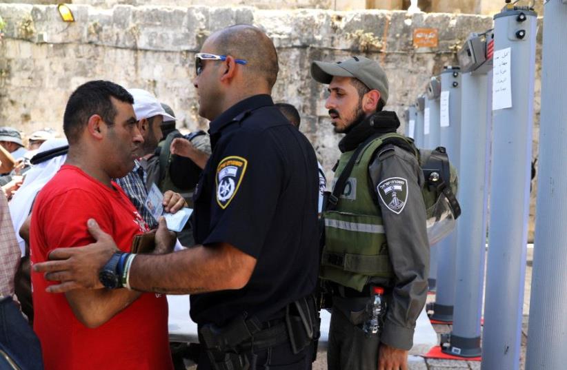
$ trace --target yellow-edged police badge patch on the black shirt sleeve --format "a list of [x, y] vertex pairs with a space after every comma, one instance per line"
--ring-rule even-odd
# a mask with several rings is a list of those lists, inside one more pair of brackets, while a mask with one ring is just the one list
[[239, 156], [224, 158], [217, 167], [217, 203], [222, 209], [228, 207], [235, 197], [238, 187], [246, 172], [248, 161]]

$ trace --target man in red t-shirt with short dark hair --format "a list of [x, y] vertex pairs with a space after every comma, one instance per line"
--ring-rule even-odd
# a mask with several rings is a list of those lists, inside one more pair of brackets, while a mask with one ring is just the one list
[[[92, 243], [89, 218], [96, 218], [122, 251], [130, 251], [132, 238], [148, 231], [111, 180], [132, 169], [143, 143], [132, 103], [126, 90], [108, 81], [90, 81], [70, 96], [63, 117], [68, 159], [35, 201], [32, 263], [48, 260], [57, 247]], [[157, 233], [157, 239], [169, 239], [163, 237], [163, 219]], [[172, 243], [167, 244], [158, 243], [155, 253], [168, 251]], [[52, 283], [43, 274], [32, 274], [32, 284], [34, 330], [46, 370], [172, 369], [166, 296], [127, 289], [48, 294]]]

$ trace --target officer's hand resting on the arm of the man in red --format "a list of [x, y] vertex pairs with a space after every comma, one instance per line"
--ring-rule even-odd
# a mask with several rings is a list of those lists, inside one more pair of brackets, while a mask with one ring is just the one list
[[103, 232], [92, 218], [87, 221], [87, 227], [96, 243], [54, 249], [49, 254], [50, 261], [33, 265], [35, 272], [46, 273], [46, 280], [60, 282], [47, 287], [49, 293], [103, 287], [99, 281], [99, 270], [118, 248], [112, 237]]

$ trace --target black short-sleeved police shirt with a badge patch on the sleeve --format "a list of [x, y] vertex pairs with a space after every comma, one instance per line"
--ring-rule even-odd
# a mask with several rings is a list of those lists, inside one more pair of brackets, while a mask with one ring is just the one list
[[212, 156], [194, 195], [195, 241], [229, 243], [257, 264], [243, 289], [192, 295], [191, 318], [218, 326], [239, 315], [281, 318], [317, 281], [315, 152], [269, 95], [233, 105], [209, 133]]

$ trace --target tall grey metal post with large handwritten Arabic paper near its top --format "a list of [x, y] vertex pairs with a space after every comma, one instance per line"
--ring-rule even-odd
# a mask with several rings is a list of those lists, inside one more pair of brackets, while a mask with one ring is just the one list
[[526, 273], [537, 14], [508, 4], [494, 19], [493, 166], [481, 369], [515, 370]]

